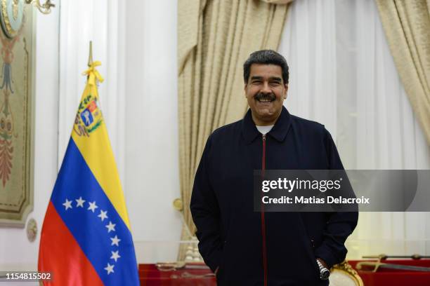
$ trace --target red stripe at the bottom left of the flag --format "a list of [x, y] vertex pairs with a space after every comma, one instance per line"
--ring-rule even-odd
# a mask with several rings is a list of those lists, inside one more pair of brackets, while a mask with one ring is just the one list
[[39, 272], [51, 272], [44, 285], [103, 285], [51, 201], [46, 210], [39, 247]]

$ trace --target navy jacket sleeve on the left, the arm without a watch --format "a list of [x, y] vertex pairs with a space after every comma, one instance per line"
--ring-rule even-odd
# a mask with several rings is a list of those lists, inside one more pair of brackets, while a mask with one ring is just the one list
[[221, 263], [222, 246], [219, 205], [208, 174], [210, 149], [211, 137], [207, 140], [195, 174], [190, 210], [197, 227], [196, 236], [199, 240], [200, 254], [207, 266], [215, 271]]

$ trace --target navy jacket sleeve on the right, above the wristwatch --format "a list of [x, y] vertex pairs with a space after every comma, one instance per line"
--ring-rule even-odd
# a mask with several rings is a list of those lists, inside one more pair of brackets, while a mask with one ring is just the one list
[[[325, 151], [329, 169], [344, 170], [330, 133], [325, 130]], [[315, 250], [315, 257], [323, 259], [330, 267], [341, 263], [346, 257], [345, 240], [356, 228], [358, 212], [332, 212], [323, 232], [323, 243]]]

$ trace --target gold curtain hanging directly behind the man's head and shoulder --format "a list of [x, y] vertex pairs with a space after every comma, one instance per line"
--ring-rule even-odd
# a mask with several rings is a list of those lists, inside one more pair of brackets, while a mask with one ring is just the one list
[[[242, 65], [249, 54], [278, 49], [287, 5], [266, 1], [178, 1], [179, 170], [191, 233], [190, 196], [207, 137], [244, 116]], [[183, 239], [189, 239], [185, 231]]]

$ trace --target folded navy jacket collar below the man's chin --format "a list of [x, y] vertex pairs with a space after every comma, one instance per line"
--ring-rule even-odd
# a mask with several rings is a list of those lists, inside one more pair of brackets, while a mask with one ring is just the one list
[[[275, 122], [272, 130], [267, 134], [275, 138], [277, 141], [284, 141], [287, 136], [287, 132], [291, 125], [291, 115], [285, 107], [282, 107], [282, 111], [278, 120]], [[245, 118], [242, 119], [242, 135], [245, 139], [245, 144], [251, 144], [254, 139], [261, 135], [259, 130], [257, 130], [254, 121], [252, 120], [251, 109], [248, 109]]]

